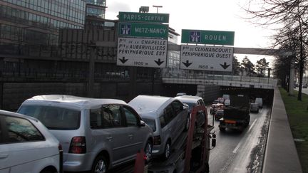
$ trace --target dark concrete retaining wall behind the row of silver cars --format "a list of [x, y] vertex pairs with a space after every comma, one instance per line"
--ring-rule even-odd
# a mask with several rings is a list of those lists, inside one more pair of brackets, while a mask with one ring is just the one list
[[[161, 83], [136, 83], [135, 95], [130, 95], [130, 84], [127, 82], [95, 83], [94, 98], [118, 98], [128, 101], [139, 94], [160, 95]], [[86, 83], [2, 83], [0, 86], [0, 109], [15, 111], [24, 100], [34, 95], [66, 94], [81, 97], [87, 96]]]

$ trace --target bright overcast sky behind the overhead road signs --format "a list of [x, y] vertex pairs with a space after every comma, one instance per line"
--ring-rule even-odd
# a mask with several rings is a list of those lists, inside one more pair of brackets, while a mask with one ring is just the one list
[[[235, 47], [269, 48], [272, 31], [255, 26], [243, 19], [247, 14], [242, 6], [247, 0], [106, 0], [106, 19], [117, 19], [119, 11], [138, 12], [140, 6], [149, 6], [150, 13], [156, 13], [153, 5], [163, 6], [158, 13], [170, 14], [169, 26], [176, 32], [182, 29], [235, 31]], [[180, 38], [179, 38], [180, 44]], [[265, 56], [236, 55], [241, 61], [248, 56], [252, 63]], [[272, 58], [267, 57], [268, 61]]]

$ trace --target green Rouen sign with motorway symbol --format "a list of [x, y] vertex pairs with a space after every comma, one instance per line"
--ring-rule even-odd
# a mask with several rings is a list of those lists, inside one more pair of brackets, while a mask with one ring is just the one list
[[182, 30], [182, 43], [234, 46], [234, 31]]

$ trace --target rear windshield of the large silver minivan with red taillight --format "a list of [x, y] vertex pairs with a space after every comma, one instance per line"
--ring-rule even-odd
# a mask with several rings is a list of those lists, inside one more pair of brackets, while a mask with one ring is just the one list
[[80, 126], [81, 112], [78, 110], [43, 105], [23, 105], [18, 112], [36, 117], [49, 130], [76, 130]]

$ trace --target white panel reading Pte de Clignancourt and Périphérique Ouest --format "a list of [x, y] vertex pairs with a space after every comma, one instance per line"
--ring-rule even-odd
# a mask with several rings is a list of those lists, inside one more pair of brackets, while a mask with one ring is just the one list
[[232, 47], [182, 45], [180, 68], [230, 72], [232, 58]]

